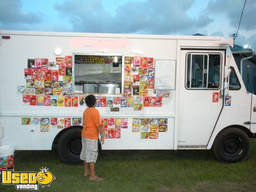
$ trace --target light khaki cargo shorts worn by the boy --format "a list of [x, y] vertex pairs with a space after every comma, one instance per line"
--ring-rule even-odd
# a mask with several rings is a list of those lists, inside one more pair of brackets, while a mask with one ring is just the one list
[[82, 137], [82, 150], [80, 159], [86, 163], [96, 163], [98, 157], [98, 140], [87, 139]]

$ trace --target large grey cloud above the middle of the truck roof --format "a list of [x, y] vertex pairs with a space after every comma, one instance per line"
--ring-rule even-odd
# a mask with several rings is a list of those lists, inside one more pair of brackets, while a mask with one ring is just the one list
[[69, 19], [79, 32], [116, 32], [169, 34], [207, 26], [212, 20], [201, 15], [197, 20], [186, 14], [193, 0], [148, 0], [119, 6], [114, 16], [105, 10], [101, 0], [66, 0], [55, 9]]

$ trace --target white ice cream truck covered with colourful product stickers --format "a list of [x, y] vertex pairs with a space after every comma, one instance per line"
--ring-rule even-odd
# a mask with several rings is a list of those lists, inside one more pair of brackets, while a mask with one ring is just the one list
[[213, 36], [0, 31], [0, 145], [81, 163], [84, 97], [94, 94], [103, 150], [213, 149], [248, 157], [256, 96], [229, 40]]

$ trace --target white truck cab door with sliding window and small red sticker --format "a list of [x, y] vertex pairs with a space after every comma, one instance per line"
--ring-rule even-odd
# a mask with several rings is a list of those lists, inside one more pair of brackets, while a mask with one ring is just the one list
[[224, 50], [180, 55], [178, 148], [206, 148], [224, 105]]

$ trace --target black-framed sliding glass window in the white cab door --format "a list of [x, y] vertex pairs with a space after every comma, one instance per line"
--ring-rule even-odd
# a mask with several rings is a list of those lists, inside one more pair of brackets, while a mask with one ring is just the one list
[[220, 88], [221, 55], [210, 53], [189, 53], [186, 56], [186, 88]]

